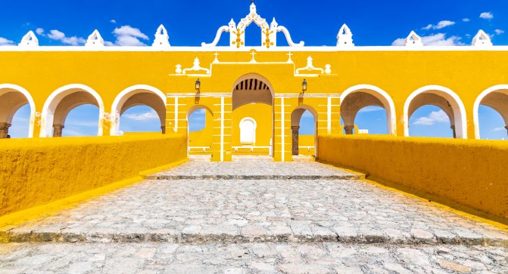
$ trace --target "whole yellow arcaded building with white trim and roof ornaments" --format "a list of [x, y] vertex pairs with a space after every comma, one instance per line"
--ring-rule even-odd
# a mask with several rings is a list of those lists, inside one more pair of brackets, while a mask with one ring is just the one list
[[[244, 44], [252, 23], [262, 29], [260, 47]], [[224, 32], [230, 45], [218, 47]], [[288, 47], [277, 46], [277, 32]], [[213, 161], [315, 154], [320, 134], [358, 132], [354, 119], [368, 105], [386, 110], [387, 132], [395, 136], [408, 136], [415, 110], [436, 105], [454, 136], [479, 138], [478, 105], [494, 108], [508, 125], [507, 60], [508, 47], [493, 46], [483, 31], [467, 47], [425, 47], [414, 32], [403, 47], [355, 47], [343, 25], [337, 45], [305, 47], [275, 19], [268, 24], [254, 4], [201, 47], [172, 47], [162, 25], [152, 47], [106, 47], [97, 31], [84, 47], [39, 47], [29, 32], [19, 46], [0, 48], [0, 138], [27, 103], [30, 137], [61, 136], [67, 114], [83, 104], [100, 110], [98, 136], [118, 135], [122, 113], [148, 105], [163, 133], [188, 134], [189, 153]], [[188, 132], [199, 109], [206, 126]], [[298, 138], [305, 111], [315, 133]]]

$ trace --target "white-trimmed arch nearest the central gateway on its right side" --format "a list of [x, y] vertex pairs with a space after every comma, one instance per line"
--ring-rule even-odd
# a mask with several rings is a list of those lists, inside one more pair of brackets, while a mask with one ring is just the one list
[[[377, 86], [358, 85], [345, 90], [340, 95], [340, 118], [344, 123], [345, 134], [353, 134], [356, 116], [368, 107], [383, 108], [386, 116], [386, 134], [395, 135], [395, 105], [388, 93]], [[371, 121], [378, 123], [378, 121]]]

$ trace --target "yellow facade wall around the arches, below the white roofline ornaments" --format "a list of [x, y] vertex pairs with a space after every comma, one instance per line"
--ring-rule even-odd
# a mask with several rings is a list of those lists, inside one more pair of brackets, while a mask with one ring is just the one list
[[[458, 133], [459, 138], [477, 137], [478, 123], [475, 124], [474, 119], [477, 110], [474, 109], [478, 96], [484, 90], [491, 88], [494, 93], [497, 92], [502, 102], [498, 109], [503, 117], [508, 117], [505, 113], [508, 107], [503, 108], [508, 102], [503, 101], [508, 98], [508, 88], [505, 89], [508, 83], [508, 63], [505, 62], [508, 60], [508, 51], [322, 51], [312, 48], [315, 51], [292, 51], [288, 60], [291, 49], [286, 49], [267, 51], [257, 48], [255, 62], [252, 62], [251, 55], [254, 50], [249, 49], [218, 51], [219, 62], [213, 62], [215, 51], [200, 51], [198, 48], [195, 51], [162, 52], [0, 51], [0, 96], [25, 90], [32, 97], [34, 137], [50, 135], [47, 128], [51, 129], [51, 125], [46, 125], [49, 120], [45, 117], [49, 110], [45, 106], [50, 109], [51, 104], [56, 105], [55, 113], [58, 112], [58, 103], [54, 102], [58, 99], [56, 91], [64, 97], [59, 99], [60, 102], [73, 95], [73, 92], [95, 92], [95, 95], [88, 97], [76, 95], [74, 100], [82, 98], [82, 103], [91, 102], [100, 107], [98, 134], [104, 136], [114, 133], [115, 113], [120, 109], [122, 100], [129, 103], [129, 98], [135, 97], [131, 94], [146, 94], [147, 97], [139, 98], [139, 102], [156, 110], [165, 106], [165, 113], [161, 111], [159, 116], [163, 117], [161, 125], [165, 126], [167, 132], [186, 134], [189, 111], [205, 107], [213, 113], [211, 128], [207, 129], [212, 132], [211, 142], [205, 142], [211, 144], [213, 160], [226, 161], [231, 160], [235, 152], [231, 147], [239, 145], [235, 139], [238, 136], [238, 132], [235, 132], [238, 128], [235, 112], [241, 110], [239, 108], [233, 112], [236, 99], [232, 91], [239, 79], [244, 78], [259, 79], [268, 86], [272, 95], [273, 103], [266, 105], [272, 109], [271, 113], [264, 106], [259, 108], [262, 111], [249, 112], [262, 115], [262, 124], [273, 125], [272, 129], [262, 127], [259, 140], [263, 140], [265, 146], [265, 137], [273, 136], [275, 160], [291, 160], [293, 111], [305, 108], [314, 112], [318, 135], [341, 133], [340, 112], [349, 111], [347, 97], [354, 98], [357, 105], [363, 105], [361, 97], [353, 96], [362, 93], [373, 95], [385, 109], [390, 109], [387, 121], [392, 127], [389, 132], [396, 136], [405, 134], [408, 99], [414, 98], [418, 90], [424, 93], [430, 90], [430, 93], [441, 96], [452, 105], [450, 108], [457, 105], [457, 112], [461, 113], [454, 114], [455, 121], [463, 121], [465, 125], [463, 136]], [[331, 73], [295, 73], [297, 68], [305, 66], [309, 56], [312, 56], [314, 66], [330, 64]], [[185, 67], [188, 64], [190, 67], [196, 57], [201, 66], [211, 68], [209, 74], [203, 71], [185, 75], [175, 73], [176, 65]], [[200, 92], [194, 88], [198, 78], [201, 82]], [[305, 92], [302, 92], [303, 79], [308, 82]], [[387, 96], [383, 97], [383, 92]], [[451, 96], [450, 92], [456, 96]], [[122, 99], [122, 96], [128, 99]], [[73, 105], [79, 103], [76, 101]]]

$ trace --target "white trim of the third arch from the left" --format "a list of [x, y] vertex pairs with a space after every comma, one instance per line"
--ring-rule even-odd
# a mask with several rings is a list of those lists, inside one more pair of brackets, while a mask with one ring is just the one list
[[129, 99], [132, 95], [135, 95], [137, 94], [138, 92], [134, 93], [131, 95], [132, 92], [135, 92], [136, 90], [144, 90], [144, 91], [149, 91], [149, 92], [153, 92], [155, 95], [159, 96], [162, 100], [162, 102], [164, 103], [164, 105], [166, 105], [166, 95], [164, 94], [164, 92], [162, 92], [161, 90], [159, 90], [159, 88], [154, 88], [153, 86], [148, 86], [148, 85], [134, 85], [134, 86], [130, 86], [124, 90], [122, 90], [122, 92], [120, 92], [117, 97], [115, 97], [115, 101], [113, 101], [113, 105], [111, 105], [111, 132], [110, 134], [111, 135], [119, 135], [120, 134], [120, 111], [122, 110], [122, 105], [124, 105], [125, 101], [127, 101], [127, 99]]

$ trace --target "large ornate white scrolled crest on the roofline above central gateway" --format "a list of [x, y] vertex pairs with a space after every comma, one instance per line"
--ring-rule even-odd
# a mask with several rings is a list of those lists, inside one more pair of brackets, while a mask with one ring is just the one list
[[298, 44], [293, 42], [288, 29], [286, 29], [286, 27], [279, 26], [277, 21], [275, 21], [275, 18], [273, 18], [272, 23], [268, 25], [266, 19], [257, 14], [256, 5], [252, 3], [249, 14], [242, 18], [238, 25], [236, 25], [235, 21], [231, 19], [231, 21], [229, 21], [229, 25], [219, 27], [213, 42], [209, 44], [202, 42], [201, 46], [217, 47], [222, 33], [229, 32], [229, 47], [241, 49], [245, 47], [245, 29], [246, 27], [249, 27], [251, 23], [255, 23], [261, 29], [261, 44], [262, 47], [266, 47], [266, 49], [270, 49], [270, 47], [277, 47], [277, 32], [282, 32], [284, 34], [290, 47], [303, 47], [303, 45], [305, 45], [305, 42], [303, 41]]

